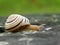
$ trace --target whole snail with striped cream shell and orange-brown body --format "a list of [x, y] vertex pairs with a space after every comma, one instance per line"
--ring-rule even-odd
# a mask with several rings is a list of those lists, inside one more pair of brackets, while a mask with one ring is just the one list
[[20, 32], [24, 29], [32, 29], [34, 31], [38, 31], [40, 26], [31, 25], [29, 19], [19, 15], [19, 14], [11, 14], [8, 16], [5, 22], [5, 29], [8, 32]]

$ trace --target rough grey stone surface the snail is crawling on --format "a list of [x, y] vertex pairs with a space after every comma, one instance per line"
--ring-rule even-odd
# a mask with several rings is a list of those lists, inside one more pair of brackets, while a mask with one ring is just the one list
[[[34, 14], [25, 15], [31, 24], [46, 26], [38, 32], [0, 33], [0, 45], [60, 45], [60, 15]], [[4, 29], [7, 17], [0, 17], [0, 31]], [[2, 26], [2, 27], [1, 27]]]

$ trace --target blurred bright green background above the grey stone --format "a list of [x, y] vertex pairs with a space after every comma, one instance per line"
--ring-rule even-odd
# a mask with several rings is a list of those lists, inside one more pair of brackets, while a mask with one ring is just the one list
[[60, 0], [0, 0], [0, 16], [12, 13], [60, 13]]

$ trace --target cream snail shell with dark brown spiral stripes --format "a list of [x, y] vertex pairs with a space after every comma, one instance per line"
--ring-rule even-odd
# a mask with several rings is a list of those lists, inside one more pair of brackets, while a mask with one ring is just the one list
[[18, 31], [24, 25], [30, 25], [28, 18], [19, 14], [11, 14], [5, 22], [5, 29], [9, 32]]

